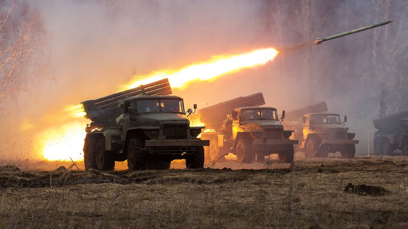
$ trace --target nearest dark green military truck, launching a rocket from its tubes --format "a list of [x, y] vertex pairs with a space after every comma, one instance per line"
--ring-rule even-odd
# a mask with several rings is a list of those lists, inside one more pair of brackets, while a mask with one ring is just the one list
[[202, 168], [209, 140], [197, 136], [204, 127], [190, 127], [183, 99], [170, 94], [164, 79], [82, 102], [92, 121], [86, 127], [85, 168], [111, 170], [115, 161], [127, 160], [129, 170], [165, 169], [174, 159]]

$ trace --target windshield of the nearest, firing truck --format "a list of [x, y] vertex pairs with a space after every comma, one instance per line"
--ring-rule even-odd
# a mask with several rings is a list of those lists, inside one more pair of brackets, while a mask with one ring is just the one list
[[184, 113], [184, 105], [180, 99], [141, 99], [137, 100], [137, 111]]

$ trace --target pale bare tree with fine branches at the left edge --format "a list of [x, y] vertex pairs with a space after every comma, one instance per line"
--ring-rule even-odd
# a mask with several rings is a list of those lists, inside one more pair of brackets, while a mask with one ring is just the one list
[[20, 0], [0, 0], [0, 101], [27, 91], [45, 76], [45, 26], [39, 10]]

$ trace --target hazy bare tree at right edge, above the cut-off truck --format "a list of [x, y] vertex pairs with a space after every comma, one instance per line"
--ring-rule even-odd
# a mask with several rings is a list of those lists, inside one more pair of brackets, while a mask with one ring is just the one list
[[[379, 98], [379, 118], [388, 114], [408, 109], [406, 101], [406, 87], [408, 74], [408, 43], [406, 42], [405, 15], [408, 13], [408, 4], [393, 1], [373, 0], [377, 21], [395, 20], [393, 26], [385, 27], [386, 33], [374, 30], [376, 38], [372, 43], [373, 74], [381, 82]], [[393, 12], [398, 12], [394, 13]]]

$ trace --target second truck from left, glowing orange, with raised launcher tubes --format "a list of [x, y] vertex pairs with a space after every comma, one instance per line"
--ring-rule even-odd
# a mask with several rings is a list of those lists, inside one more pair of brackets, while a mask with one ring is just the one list
[[[220, 123], [219, 117], [206, 117], [210, 110], [219, 112], [220, 109], [231, 108], [234, 104], [265, 104], [262, 93], [247, 97], [239, 97], [222, 102], [200, 110], [200, 119], [209, 126], [220, 127], [217, 131], [203, 133], [203, 138], [210, 138], [211, 145], [208, 156], [217, 160], [223, 155], [233, 153], [237, 155], [239, 163], [253, 163], [255, 160], [262, 162], [265, 156], [278, 154], [279, 162], [291, 163], [294, 156], [294, 144], [297, 140], [289, 139], [292, 130], [284, 130], [282, 121], [274, 107], [268, 106], [243, 106], [236, 107], [230, 114], [224, 115], [226, 119]], [[223, 107], [223, 108], [222, 108]], [[218, 109], [220, 108], [220, 109]]]

